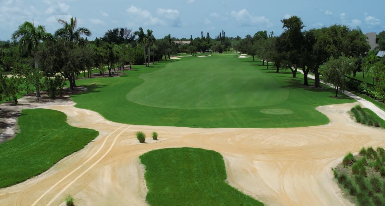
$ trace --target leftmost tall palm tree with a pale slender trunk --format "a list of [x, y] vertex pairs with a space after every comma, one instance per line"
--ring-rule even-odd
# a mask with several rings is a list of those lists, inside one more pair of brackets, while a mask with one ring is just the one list
[[[18, 29], [12, 33], [12, 40], [19, 41], [19, 47], [27, 49], [32, 53], [35, 59], [35, 71], [38, 68], [37, 48], [40, 42], [47, 40], [55, 40], [51, 33], [47, 33], [44, 26], [38, 25], [35, 27], [33, 22], [24, 22]], [[36, 97], [40, 97], [39, 80], [35, 83]]]

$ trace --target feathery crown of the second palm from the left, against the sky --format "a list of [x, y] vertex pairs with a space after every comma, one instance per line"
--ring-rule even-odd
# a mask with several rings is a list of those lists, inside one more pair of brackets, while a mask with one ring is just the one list
[[70, 42], [76, 42], [80, 45], [84, 44], [84, 39], [80, 37], [80, 35], [85, 35], [87, 37], [90, 37], [92, 33], [88, 28], [85, 27], [79, 27], [77, 28], [77, 20], [76, 17], [71, 17], [70, 22], [67, 22], [62, 19], [57, 20], [59, 23], [63, 25], [62, 28], [59, 28], [55, 32], [55, 36], [62, 37]]

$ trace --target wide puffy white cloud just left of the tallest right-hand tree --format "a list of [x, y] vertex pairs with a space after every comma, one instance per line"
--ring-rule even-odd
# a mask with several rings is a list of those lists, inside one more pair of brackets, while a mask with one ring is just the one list
[[231, 11], [231, 16], [240, 22], [242, 27], [254, 27], [258, 25], [271, 27], [273, 25], [268, 18], [264, 16], [253, 16], [246, 9], [242, 9], [239, 12]]

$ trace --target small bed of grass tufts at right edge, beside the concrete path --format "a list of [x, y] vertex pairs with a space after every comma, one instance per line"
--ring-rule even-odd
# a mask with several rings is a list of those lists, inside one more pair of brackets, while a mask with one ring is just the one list
[[360, 105], [357, 105], [350, 111], [352, 111], [358, 123], [385, 128], [385, 121], [370, 109], [361, 108]]

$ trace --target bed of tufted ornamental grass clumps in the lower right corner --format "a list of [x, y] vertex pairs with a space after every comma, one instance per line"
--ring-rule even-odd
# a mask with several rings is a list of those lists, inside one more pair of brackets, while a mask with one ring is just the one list
[[362, 148], [357, 156], [347, 154], [333, 169], [343, 193], [359, 206], [385, 205], [385, 150]]

